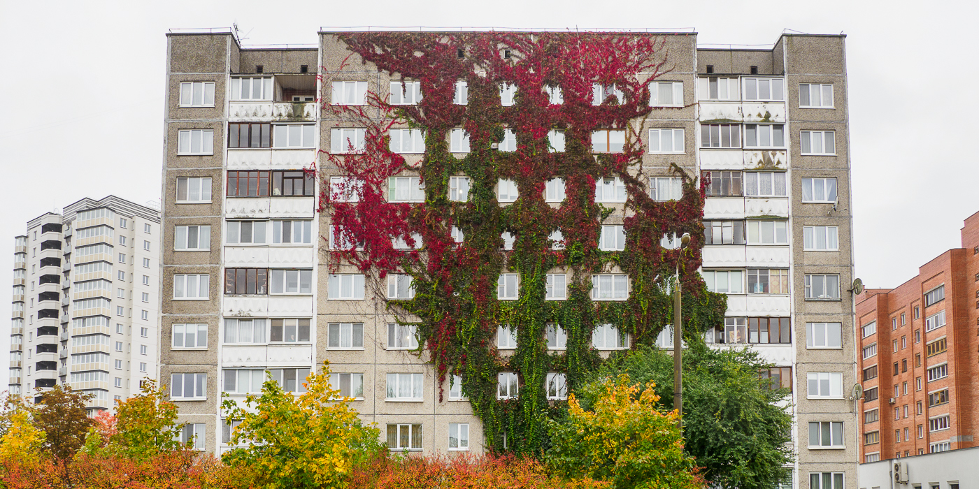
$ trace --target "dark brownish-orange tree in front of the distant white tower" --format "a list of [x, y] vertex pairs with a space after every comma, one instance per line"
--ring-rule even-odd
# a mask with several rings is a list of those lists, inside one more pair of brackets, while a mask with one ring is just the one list
[[92, 398], [72, 389], [56, 385], [41, 392], [33, 409], [34, 426], [44, 430], [44, 447], [56, 459], [70, 459], [85, 442], [85, 435], [92, 425], [85, 410], [85, 402]]

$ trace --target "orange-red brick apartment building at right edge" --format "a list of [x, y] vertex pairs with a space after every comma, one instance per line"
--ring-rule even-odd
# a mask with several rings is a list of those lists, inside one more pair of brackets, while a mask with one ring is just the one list
[[976, 446], [979, 213], [961, 234], [908, 282], [857, 299], [863, 463]]

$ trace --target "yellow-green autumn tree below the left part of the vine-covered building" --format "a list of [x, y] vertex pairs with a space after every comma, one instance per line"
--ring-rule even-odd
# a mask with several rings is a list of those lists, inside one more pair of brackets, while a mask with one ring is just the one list
[[227, 419], [241, 421], [231, 444], [247, 447], [225, 453], [224, 463], [251, 467], [258, 487], [348, 487], [353, 467], [383, 445], [380, 430], [360, 422], [350, 399], [330, 387], [329, 376], [324, 363], [319, 375], [306, 378], [306, 391], [299, 396], [269, 379], [244, 406], [225, 400]]

